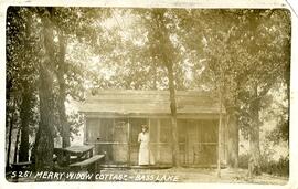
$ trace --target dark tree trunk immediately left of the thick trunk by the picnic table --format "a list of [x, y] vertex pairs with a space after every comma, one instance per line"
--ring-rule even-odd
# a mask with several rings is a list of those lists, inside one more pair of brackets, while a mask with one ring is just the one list
[[19, 161], [28, 161], [29, 160], [29, 124], [30, 124], [30, 109], [31, 107], [31, 93], [30, 90], [24, 85], [24, 93], [22, 95], [22, 104], [21, 104], [21, 144], [20, 144], [20, 153], [19, 153]]

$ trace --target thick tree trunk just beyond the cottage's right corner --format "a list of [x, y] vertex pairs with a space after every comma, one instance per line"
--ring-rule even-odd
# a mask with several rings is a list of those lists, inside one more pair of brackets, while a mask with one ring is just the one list
[[228, 112], [227, 123], [227, 166], [238, 167], [238, 116], [235, 109]]

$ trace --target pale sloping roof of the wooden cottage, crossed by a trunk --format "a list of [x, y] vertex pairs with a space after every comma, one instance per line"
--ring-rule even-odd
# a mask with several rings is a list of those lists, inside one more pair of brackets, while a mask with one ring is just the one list
[[[95, 95], [87, 95], [86, 101], [79, 106], [79, 112], [170, 115], [170, 94], [168, 91], [98, 91]], [[177, 112], [178, 114], [219, 114], [219, 99], [206, 92], [178, 91]]]

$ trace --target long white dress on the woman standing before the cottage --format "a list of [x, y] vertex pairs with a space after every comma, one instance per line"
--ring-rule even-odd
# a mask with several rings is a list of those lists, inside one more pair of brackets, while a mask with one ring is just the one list
[[140, 143], [139, 150], [139, 165], [153, 165], [155, 158], [150, 150], [150, 136], [149, 133], [140, 133], [138, 137]]

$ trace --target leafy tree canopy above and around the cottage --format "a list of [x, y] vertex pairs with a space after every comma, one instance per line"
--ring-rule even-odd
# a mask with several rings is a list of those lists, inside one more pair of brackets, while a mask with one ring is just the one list
[[[53, 23], [52, 52], [41, 45], [45, 10]], [[65, 39], [64, 53], [60, 36]], [[174, 90], [217, 93], [221, 88], [227, 114], [238, 117], [245, 138], [266, 119], [278, 117], [267, 137], [287, 141], [289, 40], [289, 12], [281, 9], [11, 7], [7, 21], [7, 116], [11, 117], [11, 109], [14, 114], [20, 109], [21, 101], [18, 107], [12, 107], [12, 102], [31, 91], [30, 129], [34, 133], [33, 125], [40, 119], [36, 86], [41, 54], [53, 53], [54, 102], [61, 78], [65, 102], [84, 101], [91, 88], [167, 90], [171, 67]], [[279, 91], [279, 86], [285, 90]], [[276, 99], [277, 93], [285, 98]], [[283, 102], [278, 111], [270, 111], [277, 102]], [[61, 133], [56, 103], [54, 125]], [[67, 120], [76, 134], [82, 119], [72, 113]]]

